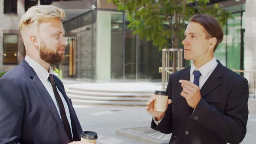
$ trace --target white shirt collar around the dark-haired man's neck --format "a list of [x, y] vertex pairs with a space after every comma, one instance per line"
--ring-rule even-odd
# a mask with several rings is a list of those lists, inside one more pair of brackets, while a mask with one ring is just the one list
[[195, 70], [199, 70], [199, 72], [202, 74], [202, 76], [205, 77], [210, 72], [210, 70], [214, 67], [216, 62], [217, 62], [217, 60], [216, 60], [215, 56], [213, 56], [213, 59], [211, 59], [209, 62], [207, 62], [206, 64], [201, 66], [199, 69], [197, 69], [197, 67], [194, 65], [194, 62], [192, 61], [191, 67], [190, 67], [190, 76], [193, 74], [193, 72]]

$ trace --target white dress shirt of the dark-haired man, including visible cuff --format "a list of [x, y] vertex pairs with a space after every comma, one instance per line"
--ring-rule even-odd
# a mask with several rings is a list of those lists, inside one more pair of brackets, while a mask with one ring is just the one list
[[[190, 67], [190, 82], [192, 82], [192, 83], [194, 82], [194, 74], [193, 74], [193, 72], [195, 70], [199, 70], [199, 72], [202, 74], [199, 77], [199, 88], [201, 89], [203, 87], [203, 84], [207, 81], [209, 76], [213, 73], [213, 70], [217, 67], [217, 65], [218, 65], [218, 62], [217, 62], [215, 56], [213, 56], [213, 59], [211, 59], [206, 64], [202, 65], [199, 69], [197, 69], [197, 67], [194, 65], [194, 62], [192, 61], [191, 62], [191, 67]], [[156, 121], [155, 118], [153, 118], [153, 120], [154, 120], [155, 124], [157, 124], [157, 125], [161, 122], [161, 120], [160, 121]]]

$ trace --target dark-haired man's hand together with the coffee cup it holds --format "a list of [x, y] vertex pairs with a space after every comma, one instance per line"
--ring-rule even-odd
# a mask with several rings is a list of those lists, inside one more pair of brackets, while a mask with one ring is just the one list
[[171, 99], [168, 99], [168, 95], [168, 92], [155, 91], [154, 95], [146, 102], [146, 111], [157, 121], [163, 118], [167, 106], [171, 104]]

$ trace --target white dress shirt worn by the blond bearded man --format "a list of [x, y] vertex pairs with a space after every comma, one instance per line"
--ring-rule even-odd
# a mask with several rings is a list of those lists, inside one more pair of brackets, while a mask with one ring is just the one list
[[[40, 81], [43, 83], [44, 87], [46, 88], [46, 90], [48, 91], [49, 95], [51, 96], [51, 98], [53, 99], [54, 105], [56, 106], [56, 109], [59, 113], [59, 117], [61, 118], [60, 112], [59, 112], [59, 106], [57, 104], [54, 92], [53, 92], [53, 87], [48, 79], [50, 74], [53, 74], [52, 68], [49, 66], [49, 72], [46, 71], [46, 69], [43, 68], [43, 66], [39, 65], [39, 63], [37, 63], [36, 61], [34, 61], [33, 59], [31, 59], [29, 56], [25, 56], [25, 60], [26, 62], [34, 69], [34, 71], [36, 72], [36, 75], [39, 77]], [[59, 92], [58, 87], [57, 91]], [[63, 102], [65, 111], [66, 111], [66, 116], [68, 118], [69, 121], [69, 125], [70, 125], [70, 129], [71, 129], [71, 133], [72, 133], [72, 125], [71, 125], [71, 118], [70, 118], [70, 114], [69, 114], [69, 107], [68, 104], [65, 100], [65, 98], [63, 97], [62, 93], [59, 92], [59, 96]], [[73, 133], [72, 133], [73, 136]]]

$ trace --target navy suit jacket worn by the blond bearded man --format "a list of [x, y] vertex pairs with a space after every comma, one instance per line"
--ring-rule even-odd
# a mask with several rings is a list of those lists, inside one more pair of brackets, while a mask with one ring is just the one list
[[[54, 76], [64, 96], [74, 141], [82, 128], [62, 82]], [[36, 72], [23, 60], [0, 79], [0, 144], [67, 144], [69, 138], [54, 102]]]

